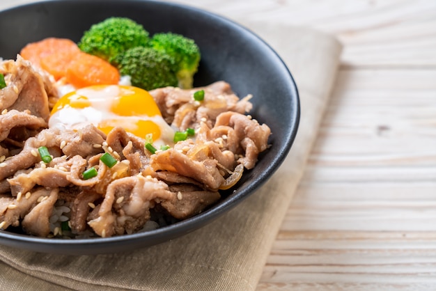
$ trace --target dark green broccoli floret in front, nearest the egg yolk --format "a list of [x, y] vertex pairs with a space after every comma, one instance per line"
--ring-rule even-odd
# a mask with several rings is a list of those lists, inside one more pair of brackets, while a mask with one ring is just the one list
[[128, 49], [114, 61], [121, 75], [130, 76], [133, 86], [152, 90], [178, 85], [173, 59], [150, 47]]

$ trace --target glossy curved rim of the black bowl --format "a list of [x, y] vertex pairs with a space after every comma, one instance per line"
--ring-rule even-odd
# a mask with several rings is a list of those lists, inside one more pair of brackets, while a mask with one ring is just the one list
[[[299, 127], [299, 118], [300, 118], [300, 102], [299, 102], [299, 93], [297, 89], [297, 85], [295, 83], [295, 79], [293, 75], [290, 73], [290, 70], [286, 66], [286, 63], [279, 56], [279, 54], [269, 45], [263, 38], [260, 38], [254, 31], [243, 26], [242, 24], [233, 21], [232, 19], [228, 19], [225, 16], [218, 15], [216, 13], [212, 13], [208, 10], [203, 10], [201, 8], [196, 8], [193, 6], [188, 6], [182, 3], [173, 3], [173, 2], [165, 2], [165, 1], [156, 1], [156, 0], [38, 0], [32, 3], [22, 3], [17, 6], [13, 6], [10, 8], [6, 8], [0, 10], [0, 15], [3, 13], [8, 13], [13, 10], [20, 10], [23, 8], [31, 8], [37, 7], [41, 5], [51, 5], [52, 3], [90, 3], [90, 2], [125, 2], [125, 3], [157, 3], [161, 6], [167, 6], [169, 8], [178, 8], [182, 10], [190, 10], [195, 13], [201, 13], [203, 15], [207, 15], [208, 17], [213, 18], [214, 20], [219, 20], [224, 24], [231, 26], [232, 29], [241, 29], [245, 31], [245, 33], [249, 33], [249, 35], [254, 36], [260, 43], [265, 45], [270, 53], [274, 54], [279, 63], [283, 65], [284, 70], [287, 72], [287, 76], [289, 78], [290, 85], [290, 93], [289, 95], [293, 97], [291, 102], [293, 103], [294, 110], [290, 112], [291, 120], [295, 120], [295, 123], [290, 125], [290, 131], [286, 136], [286, 146], [279, 149], [277, 155], [274, 155], [274, 159], [272, 159], [270, 165], [267, 167], [268, 171], [260, 173], [260, 175], [256, 176], [256, 182], [250, 183], [247, 187], [239, 191], [235, 191], [235, 195], [228, 196], [225, 200], [217, 205], [213, 205], [210, 209], [205, 210], [201, 214], [196, 214], [194, 217], [189, 219], [185, 219], [183, 221], [179, 221], [177, 223], [173, 223], [169, 226], [164, 226], [162, 228], [157, 228], [155, 230], [148, 230], [146, 232], [133, 233], [131, 235], [120, 235], [114, 237], [92, 237], [92, 238], [79, 238], [79, 239], [53, 239], [47, 237], [33, 237], [31, 235], [22, 235], [17, 233], [11, 233], [7, 230], [0, 230], [0, 244], [4, 244], [7, 246], [18, 247], [21, 249], [28, 249], [32, 251], [41, 251], [45, 253], [65, 253], [65, 250], [74, 249], [77, 255], [83, 254], [96, 254], [96, 253], [115, 253], [114, 249], [120, 249], [120, 246], [126, 244], [133, 244], [143, 242], [144, 240], [152, 241], [151, 244], [145, 244], [144, 246], [149, 246], [153, 244], [159, 244], [166, 240], [169, 240], [168, 235], [171, 233], [171, 238], [174, 239], [176, 237], [180, 237], [183, 234], [190, 233], [192, 230], [196, 230], [197, 228], [203, 228], [206, 224], [214, 221], [218, 217], [220, 217], [228, 210], [231, 210], [233, 207], [238, 205], [242, 200], [254, 194], [254, 192], [259, 189], [271, 176], [277, 171], [279, 166], [284, 162], [288, 152], [290, 151], [291, 146], [295, 141], [295, 136], [297, 135], [297, 130]], [[166, 238], [165, 238], [166, 237]], [[29, 248], [29, 244], [31, 244], [31, 248]], [[80, 249], [81, 246], [89, 246], [90, 248]], [[92, 245], [92, 247], [91, 247]]]

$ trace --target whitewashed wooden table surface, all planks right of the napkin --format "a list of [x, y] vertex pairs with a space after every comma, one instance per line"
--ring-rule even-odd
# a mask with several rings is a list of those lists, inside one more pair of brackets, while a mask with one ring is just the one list
[[178, 2], [344, 45], [258, 290], [436, 290], [436, 1]]

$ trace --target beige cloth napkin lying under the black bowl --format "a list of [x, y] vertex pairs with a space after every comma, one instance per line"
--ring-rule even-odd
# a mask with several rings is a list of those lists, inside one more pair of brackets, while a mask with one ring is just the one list
[[295, 77], [301, 98], [297, 139], [271, 180], [208, 226], [145, 249], [67, 256], [0, 246], [0, 290], [256, 288], [316, 138], [341, 45], [309, 29], [260, 22], [245, 25], [279, 52]]

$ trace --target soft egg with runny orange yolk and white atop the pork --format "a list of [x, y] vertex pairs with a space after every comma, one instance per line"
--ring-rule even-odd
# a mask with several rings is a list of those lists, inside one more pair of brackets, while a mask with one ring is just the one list
[[150, 93], [133, 86], [96, 85], [63, 95], [49, 127], [79, 129], [89, 123], [106, 134], [114, 127], [141, 138], [152, 134], [157, 146], [172, 143], [174, 136]]

